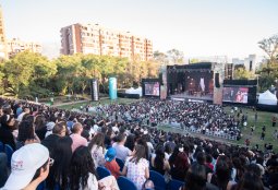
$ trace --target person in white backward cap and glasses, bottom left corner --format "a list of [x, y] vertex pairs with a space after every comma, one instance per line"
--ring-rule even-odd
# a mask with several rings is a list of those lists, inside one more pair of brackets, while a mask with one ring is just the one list
[[34, 190], [49, 173], [48, 150], [39, 144], [27, 144], [15, 151], [11, 159], [11, 175], [1, 190]]

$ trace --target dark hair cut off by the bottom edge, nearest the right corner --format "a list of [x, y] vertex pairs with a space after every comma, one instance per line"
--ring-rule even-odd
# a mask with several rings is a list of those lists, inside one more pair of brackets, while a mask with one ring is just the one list
[[237, 190], [264, 190], [261, 178], [254, 173], [245, 173], [237, 186]]

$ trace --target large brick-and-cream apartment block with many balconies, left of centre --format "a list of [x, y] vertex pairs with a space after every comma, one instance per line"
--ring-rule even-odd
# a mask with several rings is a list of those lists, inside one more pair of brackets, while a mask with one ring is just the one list
[[149, 39], [100, 27], [98, 24], [73, 24], [62, 27], [61, 54], [77, 52], [108, 55], [147, 61], [153, 58], [153, 43]]

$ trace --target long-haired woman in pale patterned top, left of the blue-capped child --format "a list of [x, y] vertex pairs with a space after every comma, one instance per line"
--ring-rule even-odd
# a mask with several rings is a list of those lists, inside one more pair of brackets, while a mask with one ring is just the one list
[[97, 133], [88, 143], [88, 150], [90, 151], [95, 166], [105, 165], [105, 134]]

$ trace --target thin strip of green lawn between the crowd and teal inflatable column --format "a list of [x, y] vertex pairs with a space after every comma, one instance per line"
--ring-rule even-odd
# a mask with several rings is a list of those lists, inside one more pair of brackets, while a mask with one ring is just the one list
[[85, 102], [85, 103], [76, 103], [74, 104], [71, 104], [71, 105], [63, 105], [63, 106], [57, 106], [61, 109], [73, 109], [73, 108], [76, 108], [78, 109], [81, 106], [87, 106], [87, 105], [90, 105], [90, 106], [98, 106], [99, 104], [100, 105], [109, 105], [109, 104], [131, 104], [131, 103], [135, 103], [135, 102], [138, 102], [140, 99], [131, 99], [131, 98], [117, 98], [116, 100], [110, 100], [109, 98], [101, 98], [99, 102]]

